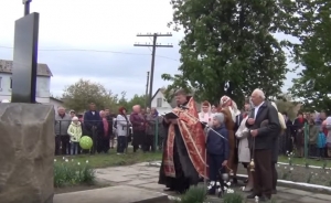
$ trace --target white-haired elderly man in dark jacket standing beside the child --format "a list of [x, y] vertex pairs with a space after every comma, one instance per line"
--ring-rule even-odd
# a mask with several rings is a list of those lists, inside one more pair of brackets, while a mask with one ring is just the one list
[[[254, 109], [247, 119], [246, 127], [249, 128], [253, 137], [252, 157], [255, 161], [254, 192], [247, 199], [259, 196], [261, 201], [270, 200], [273, 192], [273, 145], [275, 138], [280, 133], [280, 124], [278, 111], [265, 100], [265, 94], [260, 89], [255, 89], [252, 94]], [[261, 122], [268, 120], [268, 124], [261, 127]]]

